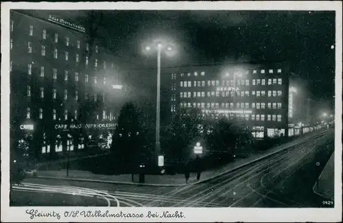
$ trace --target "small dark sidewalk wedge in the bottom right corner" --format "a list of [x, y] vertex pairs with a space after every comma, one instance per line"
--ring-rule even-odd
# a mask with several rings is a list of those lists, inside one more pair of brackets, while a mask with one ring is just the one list
[[[322, 173], [320, 174], [318, 181], [314, 184], [314, 193], [317, 193], [323, 198], [334, 200], [335, 191], [335, 153], [331, 155], [327, 165], [325, 165]], [[317, 185], [318, 184], [318, 185]]]

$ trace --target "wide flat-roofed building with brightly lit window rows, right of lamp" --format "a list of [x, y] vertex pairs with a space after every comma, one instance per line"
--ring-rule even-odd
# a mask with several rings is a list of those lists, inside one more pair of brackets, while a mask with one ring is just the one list
[[288, 72], [285, 62], [174, 69], [169, 108], [172, 113], [193, 106], [204, 115], [235, 117], [257, 138], [287, 136]]

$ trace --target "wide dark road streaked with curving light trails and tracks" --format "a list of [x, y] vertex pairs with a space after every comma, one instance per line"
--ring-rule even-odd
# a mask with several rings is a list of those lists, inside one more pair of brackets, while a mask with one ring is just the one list
[[334, 130], [197, 185], [152, 187], [28, 178], [14, 206], [333, 207], [312, 187], [334, 150]]

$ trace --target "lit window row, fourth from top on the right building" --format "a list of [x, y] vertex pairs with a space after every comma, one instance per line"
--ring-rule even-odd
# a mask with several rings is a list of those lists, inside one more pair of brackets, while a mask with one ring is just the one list
[[[181, 108], [250, 108], [250, 103], [249, 102], [237, 102], [236, 106], [233, 102], [222, 102], [222, 103], [218, 103], [218, 102], [209, 102], [209, 103], [204, 103], [204, 102], [193, 102], [193, 103], [189, 103], [189, 102], [181, 102], [180, 103], [180, 107]], [[251, 103], [251, 108], [256, 108], [256, 109], [281, 109], [282, 107], [282, 103], [281, 102], [252, 102]]]

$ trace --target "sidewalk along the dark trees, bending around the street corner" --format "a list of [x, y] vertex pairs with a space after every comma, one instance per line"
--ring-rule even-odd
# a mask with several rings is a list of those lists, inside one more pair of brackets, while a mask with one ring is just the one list
[[[261, 154], [251, 154], [250, 156], [237, 159], [233, 163], [228, 163], [219, 167], [218, 169], [209, 169], [207, 171], [202, 172], [200, 181], [196, 181], [196, 173], [191, 173], [189, 178], [189, 183], [201, 183], [211, 178], [215, 178], [216, 176], [220, 176], [225, 174], [226, 172], [233, 171], [238, 169], [239, 167], [243, 167], [252, 163], [254, 161], [258, 161], [259, 159], [263, 159], [266, 156], [270, 156], [276, 152], [280, 152], [281, 150], [285, 150], [286, 148], [291, 147], [292, 145], [296, 145], [303, 141], [306, 141], [309, 137], [314, 136], [315, 134], [320, 134], [320, 132], [324, 131], [316, 131], [311, 132], [305, 135], [302, 138], [295, 139], [289, 143], [285, 143], [283, 145], [276, 146], [271, 148], [270, 150], [266, 150]], [[131, 175], [130, 174], [122, 174], [122, 175], [102, 175], [102, 174], [93, 174], [91, 172], [82, 171], [82, 170], [69, 170], [69, 176], [67, 177], [67, 170], [57, 170], [57, 171], [39, 171], [38, 178], [59, 178], [64, 180], [82, 180], [82, 181], [93, 181], [99, 183], [118, 183], [118, 184], [128, 184], [128, 185], [141, 185], [138, 183], [138, 174], [134, 175], [134, 182], [132, 183]], [[185, 184], [185, 175], [184, 174], [175, 174], [175, 175], [145, 175], [145, 183], [143, 185], [150, 185], [150, 186], [182, 186]]]

